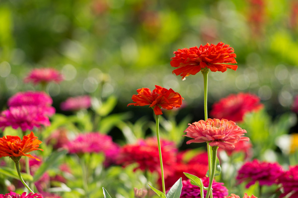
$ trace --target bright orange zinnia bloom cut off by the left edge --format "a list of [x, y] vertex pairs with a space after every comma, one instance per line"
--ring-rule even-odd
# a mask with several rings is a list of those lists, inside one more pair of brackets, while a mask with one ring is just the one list
[[0, 157], [27, 156], [39, 161], [38, 158], [26, 153], [33, 150], [43, 150], [38, 148], [41, 143], [42, 142], [37, 140], [37, 137], [34, 136], [33, 132], [24, 136], [23, 140], [18, 136], [3, 136], [3, 138], [0, 138]]

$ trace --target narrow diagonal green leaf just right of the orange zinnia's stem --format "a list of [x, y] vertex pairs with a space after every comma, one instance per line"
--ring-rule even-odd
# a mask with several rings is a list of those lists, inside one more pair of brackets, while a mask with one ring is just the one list
[[58, 159], [64, 155], [66, 155], [67, 150], [61, 150], [53, 152], [45, 162], [41, 164], [41, 166], [37, 169], [34, 174], [33, 181], [36, 182], [40, 179], [40, 177], [55, 163], [57, 163]]

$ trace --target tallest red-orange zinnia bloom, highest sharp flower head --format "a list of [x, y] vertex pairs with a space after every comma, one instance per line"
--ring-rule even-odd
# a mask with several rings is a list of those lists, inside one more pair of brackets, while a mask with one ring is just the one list
[[211, 71], [225, 72], [226, 68], [236, 71], [237, 65], [226, 64], [237, 63], [235, 60], [236, 54], [233, 52], [234, 49], [222, 42], [218, 45], [207, 43], [207, 45], [201, 45], [199, 48], [184, 48], [174, 51], [175, 57], [172, 57], [170, 64], [172, 67], [178, 67], [173, 70], [173, 73], [177, 76], [180, 74], [182, 79], [190, 74], [195, 75], [205, 67]]

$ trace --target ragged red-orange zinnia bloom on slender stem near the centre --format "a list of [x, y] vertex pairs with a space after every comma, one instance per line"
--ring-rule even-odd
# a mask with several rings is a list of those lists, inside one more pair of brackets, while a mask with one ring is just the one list
[[138, 95], [133, 95], [132, 100], [136, 103], [129, 103], [129, 105], [146, 106], [153, 108], [155, 115], [161, 115], [160, 108], [172, 109], [173, 107], [180, 107], [182, 104], [182, 97], [179, 93], [172, 89], [165, 89], [155, 85], [155, 89], [151, 92], [148, 88], [137, 90]]

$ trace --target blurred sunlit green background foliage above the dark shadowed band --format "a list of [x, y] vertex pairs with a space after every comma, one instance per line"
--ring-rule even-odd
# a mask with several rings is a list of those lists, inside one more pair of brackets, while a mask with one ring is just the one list
[[126, 109], [137, 89], [160, 85], [200, 108], [202, 75], [182, 81], [170, 58], [223, 42], [238, 69], [210, 72], [209, 103], [251, 92], [276, 115], [298, 94], [297, 35], [296, 0], [2, 0], [0, 102], [36, 89], [23, 83], [33, 68], [53, 67], [65, 76], [47, 87], [54, 106], [69, 96], [115, 95]]

